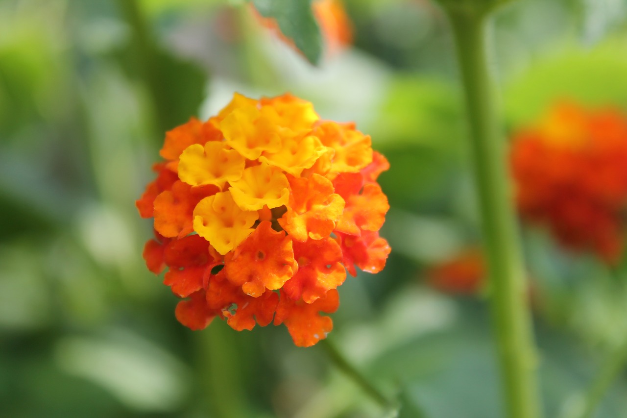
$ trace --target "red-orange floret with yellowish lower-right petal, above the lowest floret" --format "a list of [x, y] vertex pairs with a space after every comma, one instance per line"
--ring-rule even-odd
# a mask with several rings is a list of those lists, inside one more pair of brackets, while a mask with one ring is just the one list
[[303, 299], [312, 303], [324, 297], [329, 289], [335, 289], [346, 279], [341, 264], [342, 249], [333, 238], [293, 243], [298, 272], [283, 285], [283, 291], [293, 300]]

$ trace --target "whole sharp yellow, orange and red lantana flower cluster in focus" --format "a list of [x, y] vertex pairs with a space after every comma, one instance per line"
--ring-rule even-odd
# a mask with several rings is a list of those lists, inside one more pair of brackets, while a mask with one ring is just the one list
[[378, 272], [389, 168], [354, 124], [322, 121], [292, 95], [234, 95], [206, 122], [167, 132], [157, 178], [137, 200], [154, 217], [150, 271], [186, 298], [191, 328], [216, 316], [235, 330], [285, 323], [298, 346], [325, 338], [346, 270]]

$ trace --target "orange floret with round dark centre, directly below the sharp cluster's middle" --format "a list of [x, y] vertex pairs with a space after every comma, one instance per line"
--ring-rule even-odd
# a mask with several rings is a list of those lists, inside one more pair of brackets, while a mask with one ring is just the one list
[[272, 230], [271, 225], [261, 222], [224, 258], [226, 277], [249, 296], [259, 297], [266, 289], [280, 289], [298, 269], [292, 240], [285, 232]]

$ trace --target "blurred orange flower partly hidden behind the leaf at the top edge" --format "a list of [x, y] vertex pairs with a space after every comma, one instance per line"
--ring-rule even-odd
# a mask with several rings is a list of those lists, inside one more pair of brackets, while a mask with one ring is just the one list
[[[342, 0], [313, 0], [312, 9], [325, 46], [331, 55], [352, 43], [352, 24]], [[283, 35], [275, 19], [264, 18], [259, 13], [256, 15], [263, 26], [272, 29], [288, 45], [294, 46], [294, 42]]]

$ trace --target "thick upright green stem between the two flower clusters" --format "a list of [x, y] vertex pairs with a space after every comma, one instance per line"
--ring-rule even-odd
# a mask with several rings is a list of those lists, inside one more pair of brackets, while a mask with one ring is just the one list
[[537, 358], [524, 264], [486, 54], [488, 13], [466, 4], [449, 7], [448, 14], [465, 94], [507, 417], [538, 417]]

